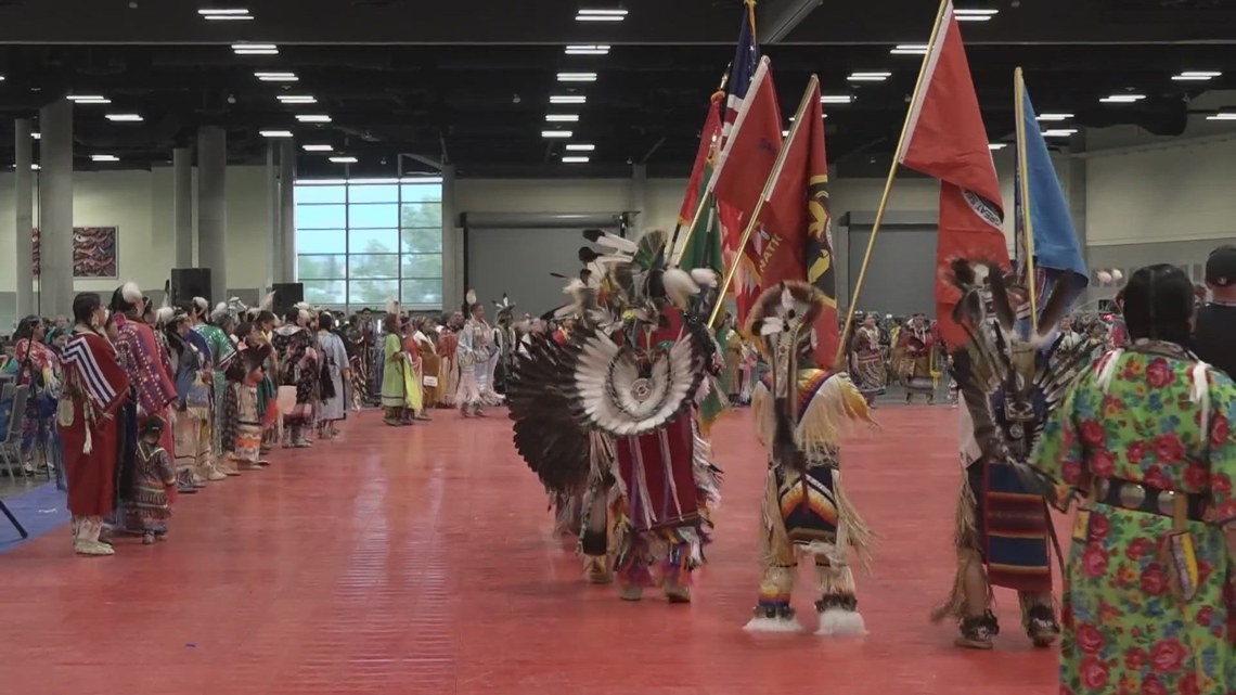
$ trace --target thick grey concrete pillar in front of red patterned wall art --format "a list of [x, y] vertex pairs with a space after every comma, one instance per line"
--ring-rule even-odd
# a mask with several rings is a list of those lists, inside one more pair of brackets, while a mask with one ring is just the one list
[[73, 103], [59, 99], [43, 106], [38, 113], [38, 129], [42, 134], [38, 147], [38, 313], [69, 314], [73, 307]]

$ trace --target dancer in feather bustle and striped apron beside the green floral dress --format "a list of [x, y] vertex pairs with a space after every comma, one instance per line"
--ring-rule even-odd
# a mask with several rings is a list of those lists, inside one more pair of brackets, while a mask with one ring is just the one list
[[[1018, 472], [1065, 388], [1103, 345], [1067, 345], [1057, 336], [1068, 312], [1068, 283], [1057, 283], [1028, 317], [1028, 292], [995, 266], [954, 261], [947, 276], [962, 292], [954, 317], [968, 341], [953, 351], [962, 394], [962, 491], [957, 511], [957, 575], [948, 600], [932, 613], [958, 621], [958, 647], [990, 649], [1000, 632], [993, 587], [1017, 591], [1022, 627], [1037, 647], [1060, 634], [1052, 599], [1052, 519], [1037, 484]], [[1022, 312], [1025, 309], [1025, 312]]]

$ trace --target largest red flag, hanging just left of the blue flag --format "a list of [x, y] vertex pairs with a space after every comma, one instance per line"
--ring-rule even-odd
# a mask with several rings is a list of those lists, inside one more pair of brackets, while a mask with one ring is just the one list
[[968, 258], [1007, 270], [1009, 249], [1000, 181], [952, 0], [944, 4], [938, 35], [925, 58], [922, 88], [910, 105], [897, 161], [941, 183], [936, 312], [944, 341], [957, 346], [967, 336], [953, 322], [960, 293], [946, 281], [948, 265]]

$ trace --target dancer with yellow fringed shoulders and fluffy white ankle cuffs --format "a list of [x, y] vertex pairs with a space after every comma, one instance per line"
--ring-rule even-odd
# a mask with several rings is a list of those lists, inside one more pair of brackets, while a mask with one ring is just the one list
[[866, 399], [844, 372], [812, 361], [812, 326], [826, 297], [805, 282], [782, 282], [751, 308], [748, 334], [760, 336], [771, 367], [755, 387], [755, 432], [769, 449], [760, 560], [764, 578], [747, 629], [797, 632], [790, 606], [800, 558], [816, 573], [821, 636], [866, 633], [850, 556], [866, 563], [871, 531], [847, 497], [840, 439], [847, 420], [871, 423]]

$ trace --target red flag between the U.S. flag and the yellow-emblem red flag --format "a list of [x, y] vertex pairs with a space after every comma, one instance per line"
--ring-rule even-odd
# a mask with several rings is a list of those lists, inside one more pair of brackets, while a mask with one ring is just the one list
[[740, 322], [745, 320], [747, 312], [759, 297], [759, 286], [751, 277], [755, 267], [751, 245], [748, 244], [739, 254], [738, 242], [781, 151], [781, 108], [769, 66], [766, 57], [760, 59], [708, 182], [708, 189], [717, 197], [721, 209], [722, 249], [727, 262], [734, 262], [732, 258], [738, 256], [733, 287]]

